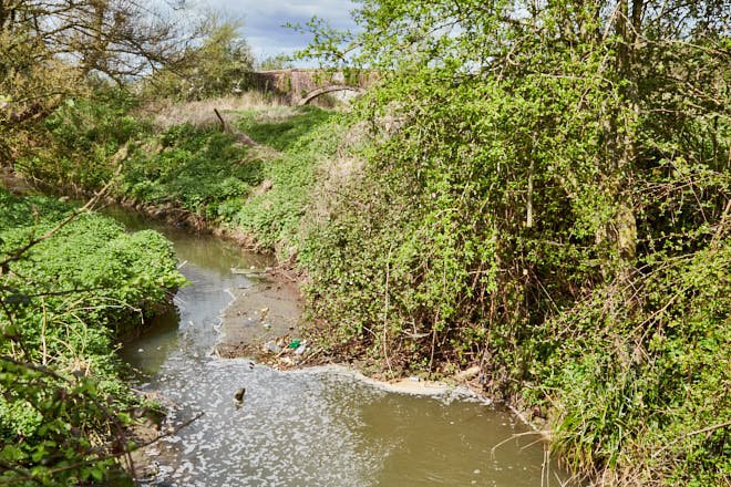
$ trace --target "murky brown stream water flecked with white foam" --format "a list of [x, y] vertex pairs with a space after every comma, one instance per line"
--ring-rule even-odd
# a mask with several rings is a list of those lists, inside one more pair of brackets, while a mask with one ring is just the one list
[[340, 371], [217, 358], [224, 310], [262, 283], [271, 259], [125, 209], [105, 213], [130, 231], [163, 232], [192, 282], [175, 311], [121, 351], [136, 371], [132, 386], [163, 397], [163, 432], [175, 432], [146, 448], [154, 474], [142, 485], [543, 487], [569, 477], [544, 462], [544, 444], [514, 414], [469, 391], [411, 395]]

